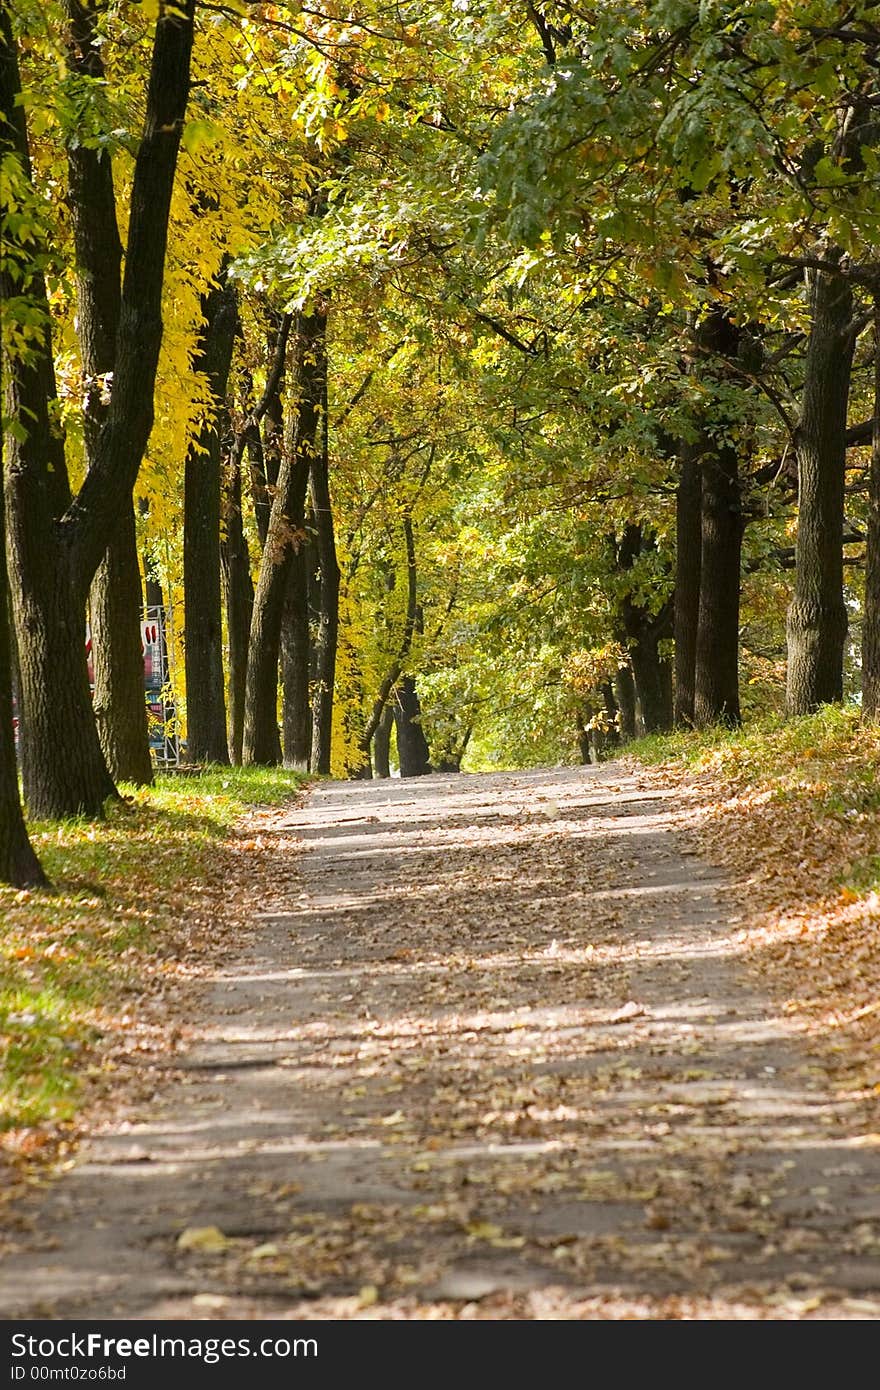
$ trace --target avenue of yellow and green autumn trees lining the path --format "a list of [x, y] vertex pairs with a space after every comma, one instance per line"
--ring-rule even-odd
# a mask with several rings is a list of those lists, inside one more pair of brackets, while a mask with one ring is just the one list
[[145, 602], [192, 763], [880, 714], [880, 0], [0, 14], [0, 880]]

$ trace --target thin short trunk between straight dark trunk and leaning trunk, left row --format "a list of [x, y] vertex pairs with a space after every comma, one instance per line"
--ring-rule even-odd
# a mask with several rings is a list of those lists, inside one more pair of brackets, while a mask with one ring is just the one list
[[242, 764], [245, 737], [245, 688], [247, 681], [247, 638], [253, 616], [253, 580], [250, 555], [242, 523], [242, 461], [231, 457], [224, 475], [224, 539], [221, 562], [227, 602], [227, 641], [229, 648], [229, 760]]

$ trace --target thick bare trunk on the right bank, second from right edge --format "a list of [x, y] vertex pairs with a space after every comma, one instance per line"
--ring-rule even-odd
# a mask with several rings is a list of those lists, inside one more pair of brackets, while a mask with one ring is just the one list
[[[840, 253], [824, 253], [826, 260]], [[841, 275], [810, 271], [812, 325], [798, 425], [798, 539], [788, 607], [790, 714], [844, 692], [844, 471], [852, 368], [852, 291]]]

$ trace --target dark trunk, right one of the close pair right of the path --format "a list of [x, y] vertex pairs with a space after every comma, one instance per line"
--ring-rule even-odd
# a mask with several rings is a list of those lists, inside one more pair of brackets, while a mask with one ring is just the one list
[[694, 723], [740, 724], [740, 460], [717, 443], [702, 457], [702, 552], [694, 670]]

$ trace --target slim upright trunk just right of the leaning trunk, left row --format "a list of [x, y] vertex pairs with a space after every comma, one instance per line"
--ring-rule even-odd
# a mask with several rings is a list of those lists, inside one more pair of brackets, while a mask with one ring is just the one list
[[[327, 346], [324, 343], [324, 353]], [[309, 484], [314, 512], [316, 548], [321, 571], [321, 599], [316, 649], [314, 699], [311, 705], [311, 771], [329, 773], [339, 637], [339, 562], [329, 495], [329, 453], [327, 438], [327, 356], [324, 356], [321, 446], [311, 460]]]

